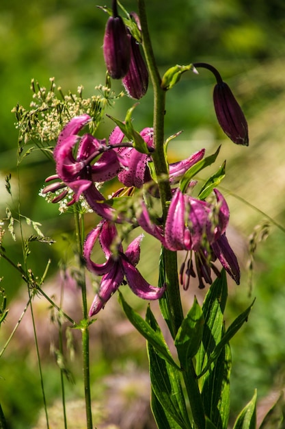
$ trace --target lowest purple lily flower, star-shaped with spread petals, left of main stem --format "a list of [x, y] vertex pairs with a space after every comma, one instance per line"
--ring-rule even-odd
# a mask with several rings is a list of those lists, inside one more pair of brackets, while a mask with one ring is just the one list
[[[162, 288], [151, 286], [135, 268], [137, 262], [139, 262], [142, 237], [140, 235], [135, 238], [128, 245], [126, 252], [123, 252], [122, 244], [116, 244], [118, 242], [118, 233], [112, 222], [101, 221], [87, 235], [83, 248], [86, 267], [92, 273], [103, 276], [99, 291], [94, 297], [90, 308], [90, 317], [96, 315], [101, 308], [104, 308], [111, 295], [117, 291], [120, 284], [124, 283], [124, 278], [126, 278], [133, 293], [138, 297], [148, 300], [162, 297], [165, 292], [165, 286]], [[97, 239], [107, 259], [103, 264], [96, 264], [91, 260], [92, 249]]]

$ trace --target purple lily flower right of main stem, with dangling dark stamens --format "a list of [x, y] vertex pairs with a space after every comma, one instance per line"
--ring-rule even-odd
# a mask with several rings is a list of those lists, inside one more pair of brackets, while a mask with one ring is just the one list
[[[187, 250], [195, 252], [196, 269], [200, 288], [203, 279], [211, 284], [211, 268], [217, 273], [213, 261], [219, 259], [221, 265], [239, 284], [239, 263], [226, 238], [226, 228], [230, 217], [228, 204], [223, 195], [214, 189], [217, 206], [195, 199], [176, 190], [169, 206], [165, 222], [165, 246], [169, 250]], [[190, 258], [185, 273], [185, 262], [180, 271], [182, 284], [187, 289], [190, 276], [195, 277], [193, 262]], [[183, 274], [185, 278], [183, 278]]]

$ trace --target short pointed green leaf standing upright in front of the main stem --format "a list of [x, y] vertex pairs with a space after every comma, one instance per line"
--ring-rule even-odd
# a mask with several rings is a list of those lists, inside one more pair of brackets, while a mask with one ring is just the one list
[[202, 308], [195, 297], [192, 308], [189, 310], [175, 338], [178, 357], [183, 368], [187, 369], [189, 360], [198, 352], [204, 329], [204, 315]]

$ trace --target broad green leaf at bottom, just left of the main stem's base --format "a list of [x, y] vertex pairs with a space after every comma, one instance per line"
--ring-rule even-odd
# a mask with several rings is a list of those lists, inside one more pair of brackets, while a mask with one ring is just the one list
[[[163, 339], [161, 330], [150, 308], [148, 308], [146, 319], [150, 323], [152, 330]], [[159, 404], [161, 404], [161, 407], [159, 407], [156, 403], [153, 410], [157, 413], [156, 417], [161, 419], [161, 424], [163, 419], [166, 418], [169, 425], [159, 427], [161, 429], [167, 427], [191, 429], [180, 382], [180, 371], [174, 366], [169, 365], [167, 360], [161, 358], [150, 341], [148, 341], [148, 358], [150, 361], [152, 391], [155, 397], [157, 397]], [[163, 409], [163, 413], [161, 408]], [[175, 422], [174, 425], [172, 424], [173, 421]]]

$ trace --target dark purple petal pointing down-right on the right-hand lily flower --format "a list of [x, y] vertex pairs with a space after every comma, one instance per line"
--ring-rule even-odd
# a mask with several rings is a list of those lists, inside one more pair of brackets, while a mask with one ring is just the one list
[[236, 255], [234, 254], [232, 247], [230, 247], [230, 244], [228, 243], [226, 234], [223, 234], [219, 240], [212, 244], [212, 249], [215, 256], [217, 256], [221, 262], [223, 268], [226, 269], [236, 284], [239, 284], [241, 278], [239, 262], [236, 259]]

